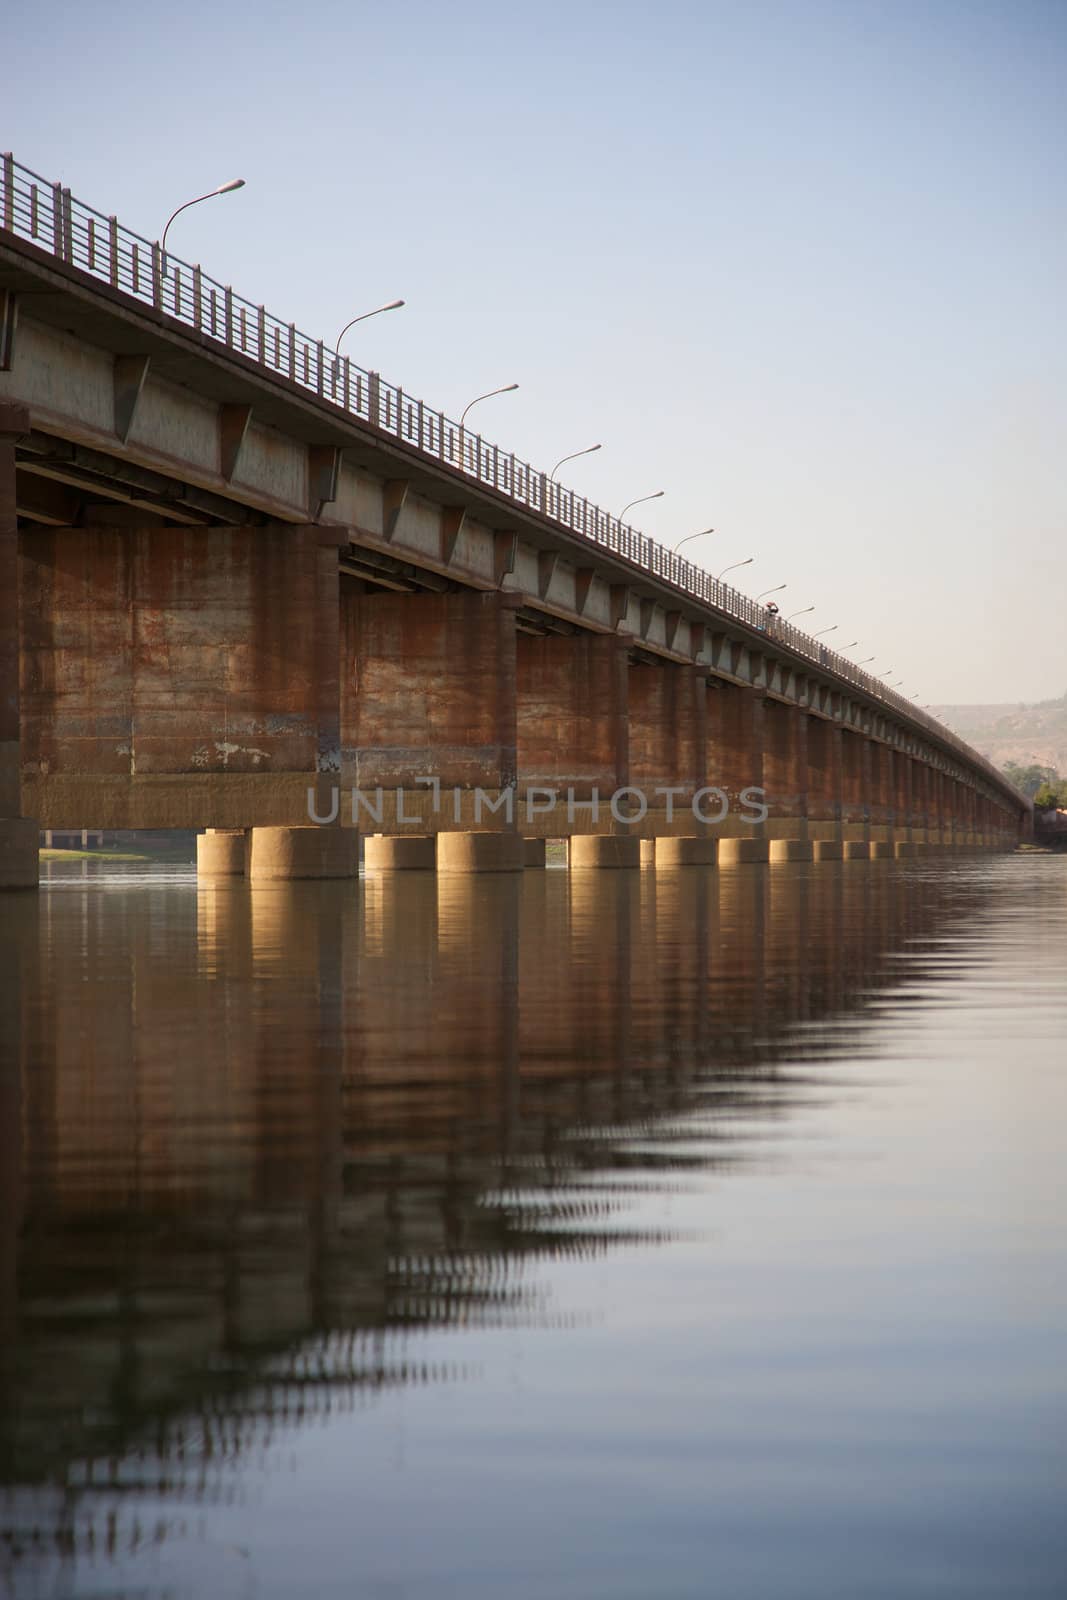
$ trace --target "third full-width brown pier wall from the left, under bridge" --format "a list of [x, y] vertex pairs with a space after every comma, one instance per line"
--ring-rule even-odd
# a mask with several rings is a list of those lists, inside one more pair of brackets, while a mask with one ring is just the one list
[[517, 826], [541, 838], [617, 830], [609, 802], [629, 784], [629, 642], [520, 634], [515, 667]]

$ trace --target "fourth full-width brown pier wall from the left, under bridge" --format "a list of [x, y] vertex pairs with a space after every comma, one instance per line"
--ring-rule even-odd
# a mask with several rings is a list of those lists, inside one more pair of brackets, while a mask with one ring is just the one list
[[[635, 824], [645, 838], [667, 834], [693, 838], [707, 832], [693, 810], [693, 795], [707, 784], [707, 696], [704, 669], [645, 659], [630, 664], [629, 781], [646, 802], [646, 813]], [[680, 794], [669, 795], [670, 789]], [[710, 813], [715, 814], [713, 806]]]

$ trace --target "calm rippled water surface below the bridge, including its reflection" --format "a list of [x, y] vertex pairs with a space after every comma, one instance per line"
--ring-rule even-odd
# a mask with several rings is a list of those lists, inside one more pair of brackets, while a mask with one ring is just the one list
[[1067, 859], [0, 909], [0, 1592], [1067, 1592]]

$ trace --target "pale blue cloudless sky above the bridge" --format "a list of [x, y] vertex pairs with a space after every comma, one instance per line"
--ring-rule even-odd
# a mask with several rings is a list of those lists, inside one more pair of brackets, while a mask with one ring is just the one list
[[[56, 0], [0, 144], [926, 702], [1067, 693], [1067, 5]], [[472, 424], [475, 413], [472, 413]]]

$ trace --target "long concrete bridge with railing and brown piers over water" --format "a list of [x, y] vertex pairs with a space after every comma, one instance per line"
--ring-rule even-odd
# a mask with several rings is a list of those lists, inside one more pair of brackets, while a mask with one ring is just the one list
[[354, 822], [373, 864], [469, 869], [1011, 848], [1029, 816], [853, 662], [0, 158], [0, 883], [38, 827], [344, 875]]

